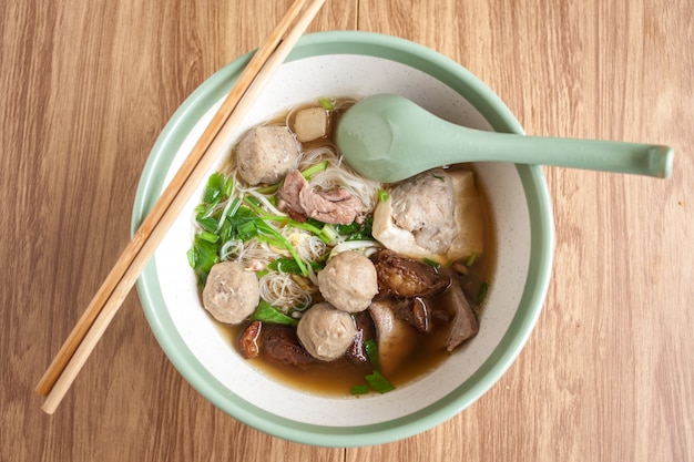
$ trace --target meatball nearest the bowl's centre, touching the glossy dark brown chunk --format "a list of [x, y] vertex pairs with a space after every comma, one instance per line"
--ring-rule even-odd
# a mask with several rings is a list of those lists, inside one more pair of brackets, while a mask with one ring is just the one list
[[374, 263], [356, 251], [339, 253], [318, 273], [318, 288], [335, 308], [364, 311], [378, 294]]

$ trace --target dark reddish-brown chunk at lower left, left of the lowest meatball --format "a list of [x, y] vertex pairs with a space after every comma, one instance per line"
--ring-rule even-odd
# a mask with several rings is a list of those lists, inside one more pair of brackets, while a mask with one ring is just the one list
[[246, 359], [262, 356], [299, 370], [315, 361], [299, 343], [296, 330], [289, 326], [253, 321], [241, 333], [238, 349]]

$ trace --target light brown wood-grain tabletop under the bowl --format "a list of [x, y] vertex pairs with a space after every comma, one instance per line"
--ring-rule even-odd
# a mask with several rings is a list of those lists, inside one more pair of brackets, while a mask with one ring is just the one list
[[129, 240], [149, 152], [289, 0], [0, 8], [1, 461], [685, 461], [694, 458], [694, 16], [687, 0], [328, 0], [312, 30], [462, 63], [530, 134], [671, 144], [666, 181], [545, 168], [557, 250], [525, 349], [405, 441], [285, 442], [198, 396], [133, 292], [53, 417], [33, 392]]

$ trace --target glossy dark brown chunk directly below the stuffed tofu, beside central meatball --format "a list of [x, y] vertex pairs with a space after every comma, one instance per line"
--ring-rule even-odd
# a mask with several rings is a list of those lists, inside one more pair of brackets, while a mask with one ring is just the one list
[[427, 297], [443, 290], [450, 278], [431, 265], [407, 258], [392, 250], [379, 250], [375, 256], [379, 296]]

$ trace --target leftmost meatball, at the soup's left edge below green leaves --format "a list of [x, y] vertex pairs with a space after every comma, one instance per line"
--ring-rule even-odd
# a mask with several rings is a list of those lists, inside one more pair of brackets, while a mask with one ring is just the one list
[[224, 261], [210, 270], [203, 289], [203, 306], [221, 322], [237, 325], [253, 315], [261, 301], [255, 273], [241, 263]]

